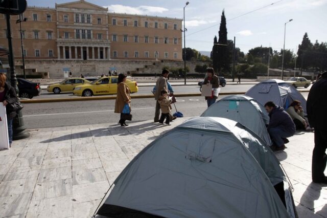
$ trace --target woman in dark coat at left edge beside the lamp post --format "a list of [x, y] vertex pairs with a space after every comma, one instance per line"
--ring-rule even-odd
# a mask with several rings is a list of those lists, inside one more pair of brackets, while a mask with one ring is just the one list
[[12, 121], [17, 115], [11, 104], [17, 102], [18, 98], [15, 89], [8, 82], [6, 82], [6, 79], [6, 75], [4, 73], [0, 73], [0, 102], [6, 106], [9, 146], [11, 146], [13, 135]]

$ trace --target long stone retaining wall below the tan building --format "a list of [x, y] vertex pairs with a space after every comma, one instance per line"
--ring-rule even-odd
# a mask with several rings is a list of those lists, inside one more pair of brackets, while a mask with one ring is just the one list
[[[186, 66], [190, 68], [190, 73], [194, 73], [196, 64], [205, 64], [205, 62], [186, 61]], [[16, 73], [22, 74], [21, 61], [15, 61]], [[184, 68], [183, 61], [146, 61], [146, 60], [25, 60], [25, 68], [35, 69], [36, 72], [49, 72], [50, 78], [63, 78], [63, 69], [68, 68], [74, 76], [100, 76], [108, 74], [110, 68], [115, 68], [119, 73], [130, 73], [133, 76], [137, 74], [161, 73], [163, 67]]]

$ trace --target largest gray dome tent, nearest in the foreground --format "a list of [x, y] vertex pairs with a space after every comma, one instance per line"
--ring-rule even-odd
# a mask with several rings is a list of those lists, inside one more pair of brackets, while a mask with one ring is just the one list
[[272, 185], [285, 175], [263, 144], [235, 121], [192, 118], [126, 166], [96, 217], [295, 217], [289, 189], [285, 207]]

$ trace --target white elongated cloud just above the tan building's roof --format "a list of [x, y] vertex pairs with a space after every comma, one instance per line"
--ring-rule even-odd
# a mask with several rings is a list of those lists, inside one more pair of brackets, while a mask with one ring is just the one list
[[138, 7], [130, 7], [125, 5], [109, 5], [105, 6], [109, 9], [109, 11], [115, 13], [127, 13], [127, 14], [161, 14], [168, 11], [167, 8], [162, 7], [153, 7], [153, 6], [138, 6]]

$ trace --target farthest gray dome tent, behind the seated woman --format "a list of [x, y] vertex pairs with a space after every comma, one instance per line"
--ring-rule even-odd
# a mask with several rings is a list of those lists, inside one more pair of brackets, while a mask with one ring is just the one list
[[303, 111], [307, 114], [307, 101], [299, 93], [293, 85], [279, 80], [270, 79], [260, 82], [249, 89], [245, 95], [250, 96], [265, 105], [268, 101], [273, 101], [275, 104], [282, 106], [285, 110], [294, 100], [299, 100], [303, 107]]

